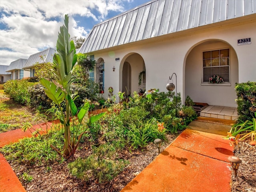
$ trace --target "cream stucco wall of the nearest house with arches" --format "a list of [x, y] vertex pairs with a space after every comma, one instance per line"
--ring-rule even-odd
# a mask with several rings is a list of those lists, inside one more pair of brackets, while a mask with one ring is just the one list
[[[254, 53], [256, 50], [256, 24], [255, 22], [248, 24], [241, 22], [239, 26], [226, 24], [227, 22], [223, 25], [208, 26], [202, 30], [186, 30], [180, 35], [170, 34], [162, 39], [152, 38], [150, 42], [142, 41], [136, 45], [131, 43], [127, 44], [125, 48], [110, 48], [103, 54], [95, 54], [95, 60], [102, 57], [105, 61], [105, 88], [112, 86], [114, 93], [122, 90], [122, 65], [128, 56], [138, 53], [144, 59], [146, 66], [147, 90], [159, 88], [160, 91], [166, 91], [169, 76], [175, 72], [177, 74], [177, 92], [181, 93], [183, 102], [186, 95], [190, 95], [196, 102], [235, 106], [235, 82], [256, 81], [256, 54]], [[238, 46], [237, 40], [241, 38], [251, 38], [252, 44]], [[217, 40], [219, 43], [202, 44], [212, 40]], [[230, 86], [202, 86], [202, 50], [223, 46], [231, 48], [232, 76]], [[120, 61], [116, 62], [115, 58], [120, 58]], [[136, 60], [135, 57], [132, 59]], [[116, 68], [115, 72], [112, 70], [113, 66]], [[190, 70], [196, 78], [190, 78]], [[132, 88], [134, 90], [138, 88], [136, 84], [139, 72], [139, 69], [136, 73], [132, 72]], [[199, 81], [193, 84], [192, 82], [196, 80]]]

